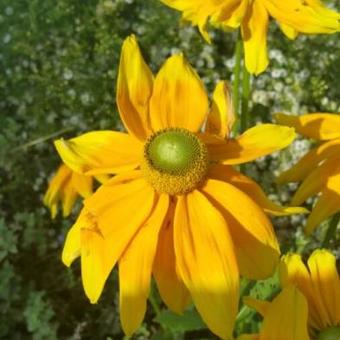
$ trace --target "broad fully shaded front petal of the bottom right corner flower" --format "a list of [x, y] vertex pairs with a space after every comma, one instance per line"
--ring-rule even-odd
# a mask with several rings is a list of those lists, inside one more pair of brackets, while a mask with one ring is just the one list
[[294, 286], [286, 287], [270, 304], [260, 332], [261, 340], [310, 340], [308, 305]]

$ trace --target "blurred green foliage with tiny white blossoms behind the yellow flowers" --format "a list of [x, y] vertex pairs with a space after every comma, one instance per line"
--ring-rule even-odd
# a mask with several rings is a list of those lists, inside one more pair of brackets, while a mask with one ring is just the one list
[[[340, 2], [329, 1], [339, 9]], [[123, 339], [113, 273], [97, 305], [80, 282], [79, 263], [60, 261], [68, 219], [51, 220], [42, 204], [48, 180], [59, 164], [52, 140], [94, 129], [121, 129], [115, 83], [120, 47], [135, 33], [145, 59], [156, 71], [182, 50], [209, 90], [216, 80], [232, 81], [236, 34], [213, 31], [206, 44], [196, 29], [157, 0], [2, 0], [0, 2], [0, 338]], [[339, 35], [287, 40], [270, 27], [271, 64], [253, 79], [251, 124], [272, 121], [277, 111], [340, 112]], [[294, 185], [277, 188], [274, 175], [298, 159], [309, 143], [246, 169], [270, 197], [287, 203]], [[310, 202], [311, 203], [311, 202]], [[320, 245], [301, 233], [303, 217], [274, 220], [283, 250], [308, 254]], [[339, 240], [330, 247], [336, 249]], [[277, 280], [247, 292], [271, 296]], [[178, 318], [153, 295], [134, 339], [213, 339], [193, 310]], [[241, 310], [236, 334], [255, 331], [259, 318]]]

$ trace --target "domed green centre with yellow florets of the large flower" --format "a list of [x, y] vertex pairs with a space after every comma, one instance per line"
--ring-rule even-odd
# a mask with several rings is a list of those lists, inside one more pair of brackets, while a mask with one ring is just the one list
[[195, 189], [208, 170], [205, 144], [186, 129], [169, 128], [153, 134], [144, 146], [142, 171], [156, 191], [182, 195]]

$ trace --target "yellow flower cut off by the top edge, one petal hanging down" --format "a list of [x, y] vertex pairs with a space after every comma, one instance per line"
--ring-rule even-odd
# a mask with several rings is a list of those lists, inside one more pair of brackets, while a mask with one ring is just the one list
[[327, 9], [320, 0], [161, 0], [183, 12], [183, 18], [198, 26], [209, 41], [208, 21], [231, 30], [241, 26], [245, 63], [250, 73], [268, 66], [267, 31], [270, 17], [289, 39], [299, 33], [334, 33], [340, 29], [340, 14]]

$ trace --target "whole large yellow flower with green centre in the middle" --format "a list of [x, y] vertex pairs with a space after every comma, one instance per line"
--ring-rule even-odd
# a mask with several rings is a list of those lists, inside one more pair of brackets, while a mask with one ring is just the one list
[[218, 83], [209, 110], [204, 86], [182, 54], [170, 57], [154, 78], [134, 36], [123, 44], [117, 104], [128, 133], [95, 131], [55, 142], [74, 171], [116, 174], [84, 201], [63, 262], [81, 257], [92, 303], [118, 264], [126, 334], [143, 320], [153, 275], [171, 310], [181, 313], [191, 296], [209, 328], [227, 339], [239, 273], [268, 277], [279, 258], [263, 209], [301, 211], [272, 203], [232, 165], [284, 148], [294, 130], [267, 124], [229, 138], [226, 83]]

